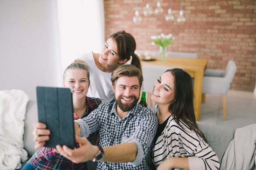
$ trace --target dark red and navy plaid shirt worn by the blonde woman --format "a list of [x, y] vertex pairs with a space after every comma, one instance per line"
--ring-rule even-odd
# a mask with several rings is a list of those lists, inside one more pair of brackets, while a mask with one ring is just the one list
[[[87, 110], [83, 117], [86, 117], [92, 110], [97, 108], [101, 104], [101, 99], [94, 97], [87, 97], [85, 99], [87, 103]], [[90, 134], [88, 139], [92, 137]], [[76, 144], [76, 148], [79, 148], [79, 144]], [[36, 170], [86, 170], [87, 164], [73, 163], [69, 159], [61, 156], [60, 154], [53, 151], [53, 148], [42, 147], [38, 149], [34, 155], [27, 161]]]

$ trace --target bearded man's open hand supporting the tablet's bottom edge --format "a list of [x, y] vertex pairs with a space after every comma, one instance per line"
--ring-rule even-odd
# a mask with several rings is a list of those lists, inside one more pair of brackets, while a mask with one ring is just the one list
[[99, 148], [94, 146], [84, 137], [76, 136], [76, 142], [79, 143], [79, 148], [70, 149], [67, 146], [56, 146], [54, 152], [61, 154], [63, 157], [71, 160], [74, 163], [86, 162], [94, 159], [99, 152]]

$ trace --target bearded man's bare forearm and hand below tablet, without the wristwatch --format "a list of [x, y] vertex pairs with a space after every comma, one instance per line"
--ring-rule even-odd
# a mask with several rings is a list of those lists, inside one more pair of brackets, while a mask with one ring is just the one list
[[[70, 159], [74, 163], [90, 161], [94, 159], [95, 155], [99, 152], [99, 148], [94, 146], [86, 138], [76, 136], [76, 142], [80, 147], [70, 149], [67, 146], [61, 147], [58, 145], [55, 152]], [[115, 146], [103, 147], [105, 157], [102, 161], [113, 163], [132, 162], [137, 155], [137, 147], [133, 143], [119, 144]]]

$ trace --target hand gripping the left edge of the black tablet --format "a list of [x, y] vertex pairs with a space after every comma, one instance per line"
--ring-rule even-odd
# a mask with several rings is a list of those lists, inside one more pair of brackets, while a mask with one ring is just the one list
[[[34, 130], [33, 130], [34, 141], [36, 142], [34, 148], [39, 149], [45, 145], [45, 141], [50, 139], [49, 137], [50, 130], [45, 129], [46, 125], [40, 122], [34, 123], [33, 126], [34, 126]], [[43, 136], [39, 136], [39, 135], [43, 135]]]

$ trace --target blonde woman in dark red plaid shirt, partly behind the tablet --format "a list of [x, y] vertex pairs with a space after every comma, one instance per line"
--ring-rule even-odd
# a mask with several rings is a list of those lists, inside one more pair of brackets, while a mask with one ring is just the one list
[[[90, 73], [88, 66], [82, 60], [75, 60], [64, 71], [63, 86], [73, 89], [72, 99], [74, 108], [74, 119], [86, 117], [92, 110], [98, 108], [101, 99], [87, 97], [88, 88], [90, 86]], [[90, 134], [88, 139], [91, 139]], [[79, 148], [79, 144], [76, 144]], [[53, 148], [41, 147], [27, 161], [22, 170], [86, 170], [87, 164], [73, 163], [69, 159], [54, 152]]]

